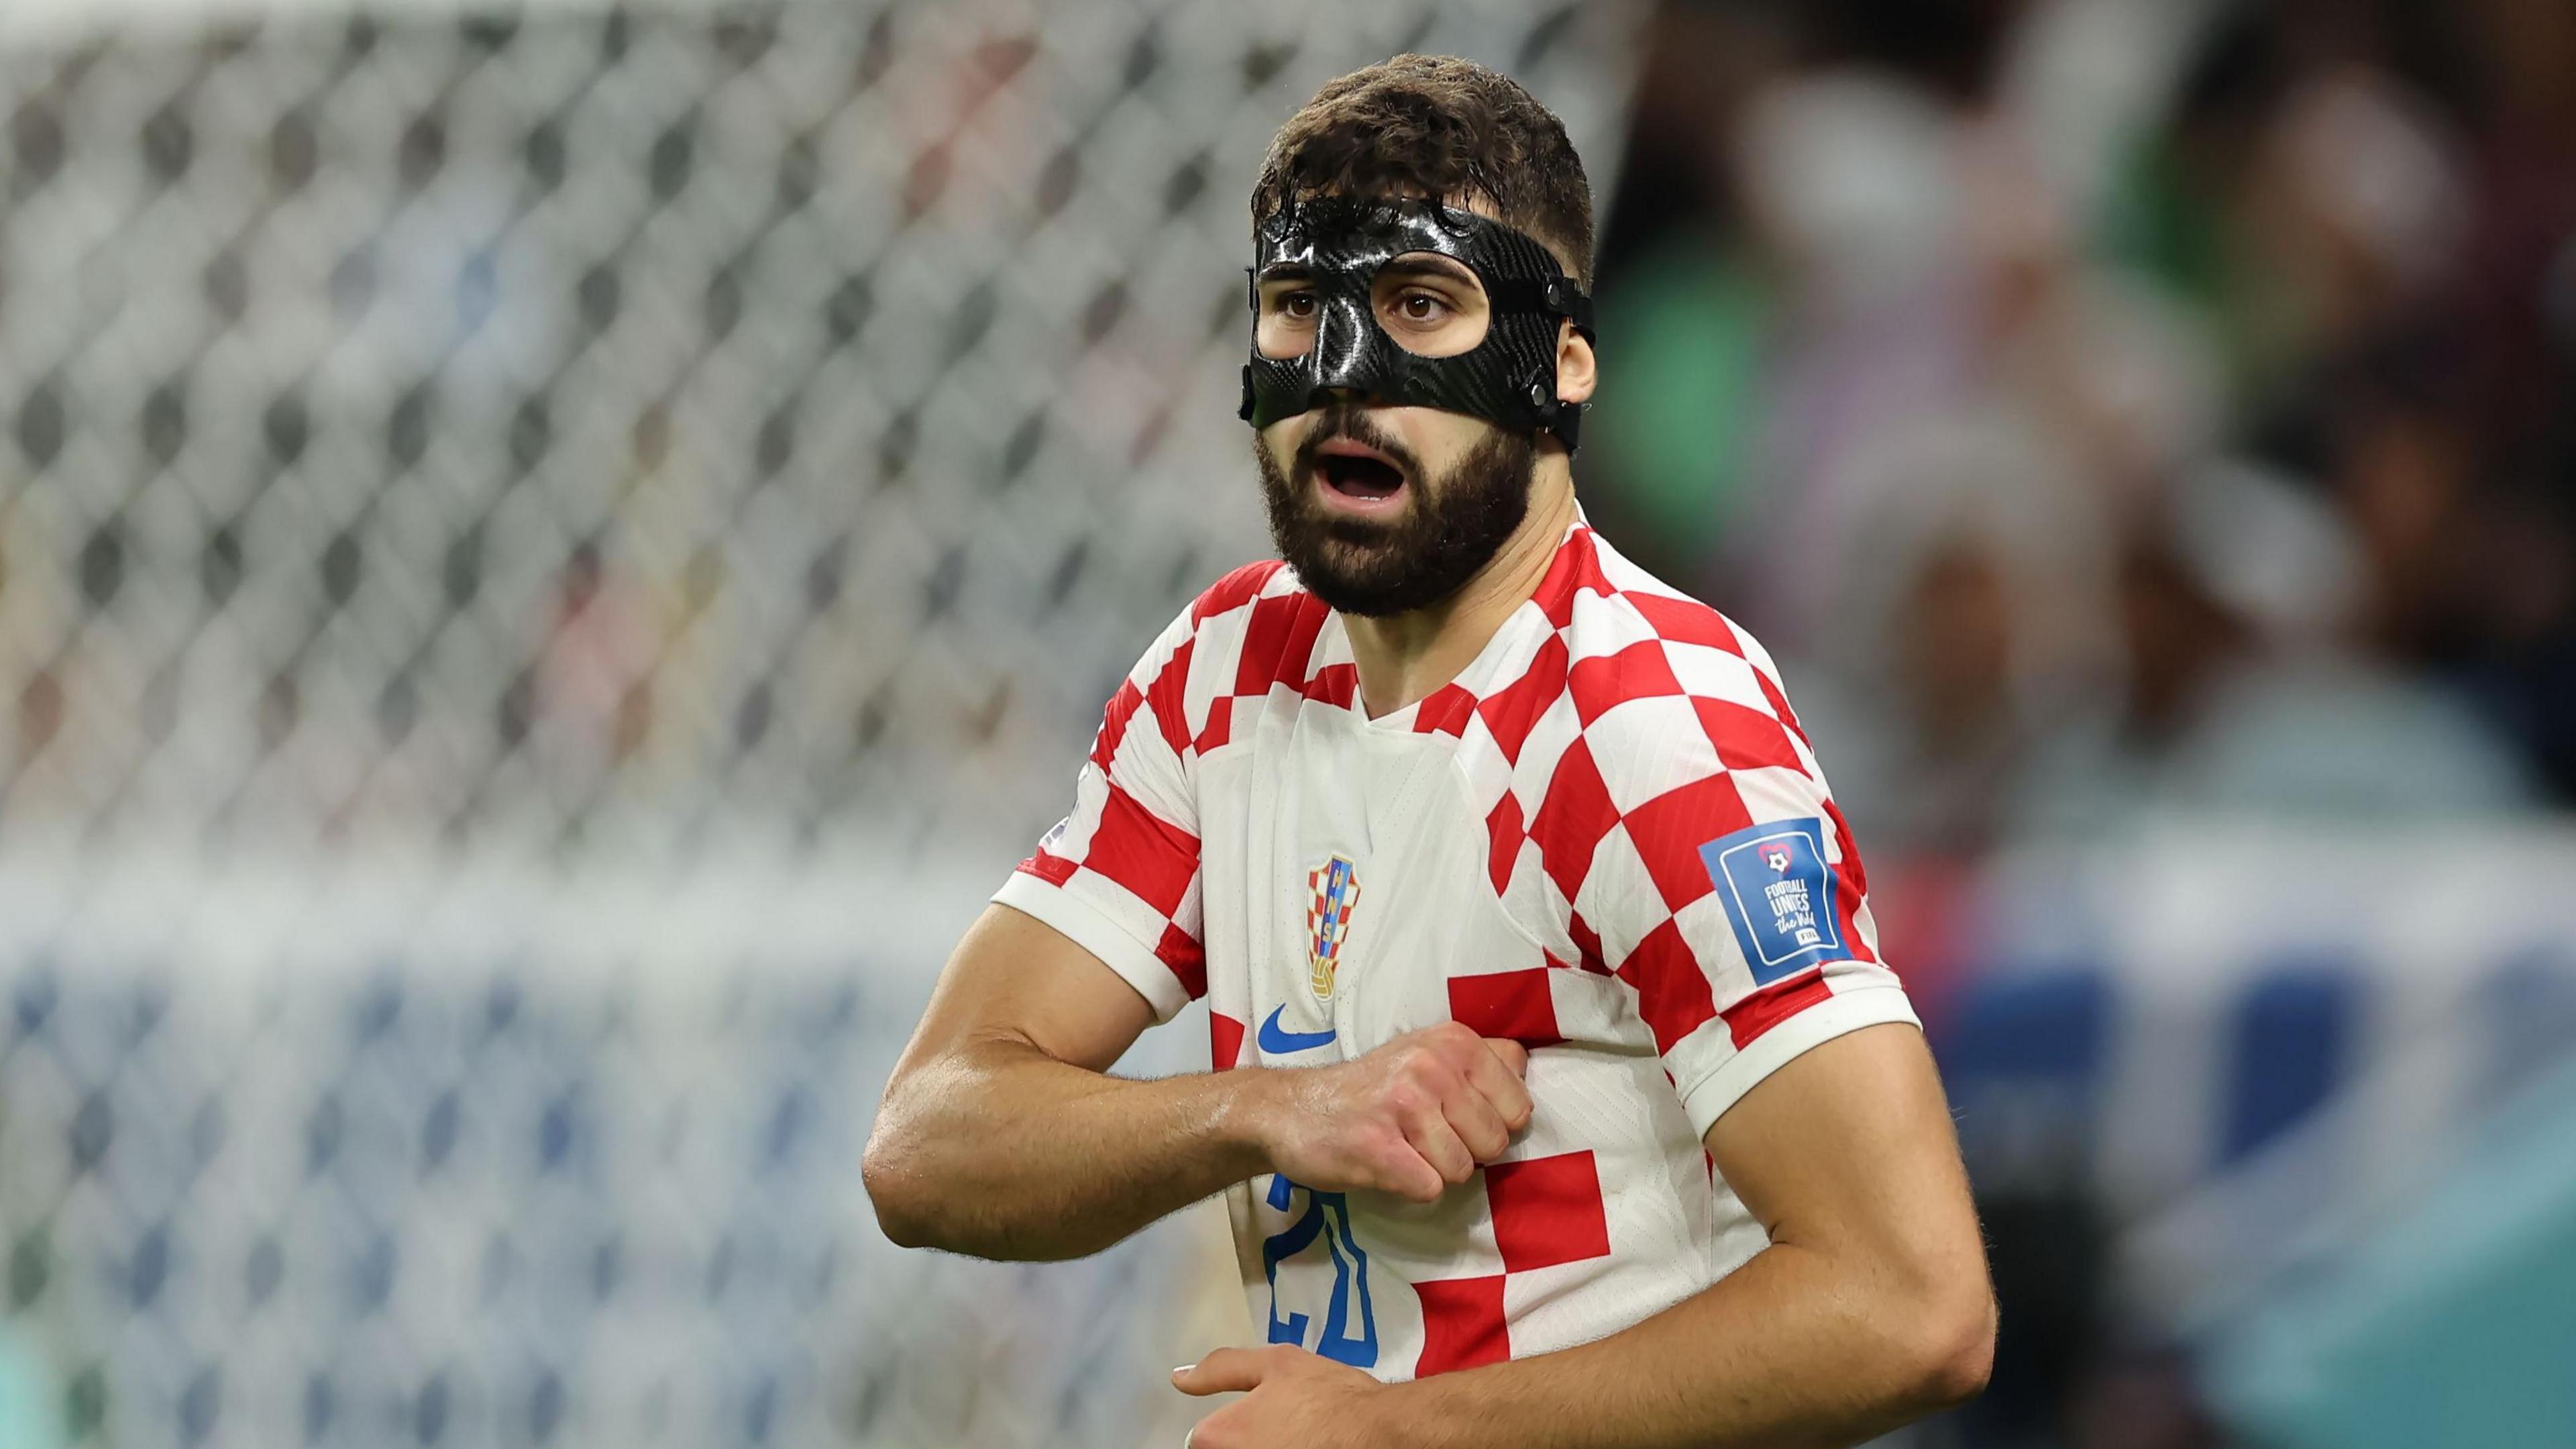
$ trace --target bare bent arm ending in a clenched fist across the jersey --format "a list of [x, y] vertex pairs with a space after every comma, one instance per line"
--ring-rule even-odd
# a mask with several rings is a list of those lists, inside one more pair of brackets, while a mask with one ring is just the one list
[[1520, 1047], [1455, 1024], [1332, 1067], [1108, 1075], [1154, 1011], [1056, 928], [987, 908], [894, 1065], [860, 1168], [886, 1238], [1077, 1258], [1267, 1171], [1430, 1201], [1530, 1114]]

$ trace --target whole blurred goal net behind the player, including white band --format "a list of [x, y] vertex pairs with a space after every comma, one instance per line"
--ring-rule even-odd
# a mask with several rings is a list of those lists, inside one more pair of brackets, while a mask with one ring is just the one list
[[0, 26], [0, 1444], [1159, 1434], [1180, 1238], [891, 1253], [873, 1091], [1265, 552], [1270, 129], [1461, 52], [1605, 183], [1623, 23]]

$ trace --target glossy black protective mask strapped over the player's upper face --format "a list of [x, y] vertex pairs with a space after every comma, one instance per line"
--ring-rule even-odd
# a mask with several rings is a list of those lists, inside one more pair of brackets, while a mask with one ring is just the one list
[[[1481, 343], [1427, 358], [1386, 335], [1370, 289], [1378, 268], [1404, 253], [1437, 253], [1476, 273], [1489, 309]], [[1293, 358], [1265, 358], [1255, 343], [1242, 405], [1255, 428], [1306, 413], [1316, 392], [1347, 387], [1401, 407], [1548, 431], [1574, 451], [1582, 405], [1556, 400], [1556, 327], [1571, 320], [1592, 340], [1592, 299], [1525, 232], [1432, 201], [1314, 196], [1273, 211], [1255, 232], [1255, 325], [1270, 268], [1306, 273], [1316, 327], [1314, 345]]]

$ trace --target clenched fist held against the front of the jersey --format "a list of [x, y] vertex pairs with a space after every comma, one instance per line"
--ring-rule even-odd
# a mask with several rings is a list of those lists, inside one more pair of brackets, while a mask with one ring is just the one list
[[1273, 1067], [1260, 1142], [1273, 1171], [1309, 1189], [1437, 1201], [1530, 1124], [1528, 1065], [1520, 1042], [1443, 1021], [1355, 1062]]

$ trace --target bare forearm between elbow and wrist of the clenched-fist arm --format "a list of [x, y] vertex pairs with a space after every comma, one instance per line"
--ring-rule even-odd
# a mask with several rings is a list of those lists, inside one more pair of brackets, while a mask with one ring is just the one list
[[886, 1232], [979, 1258], [1079, 1258], [1267, 1171], [1252, 1073], [1128, 1080], [987, 1039], [886, 1091], [866, 1181]]

